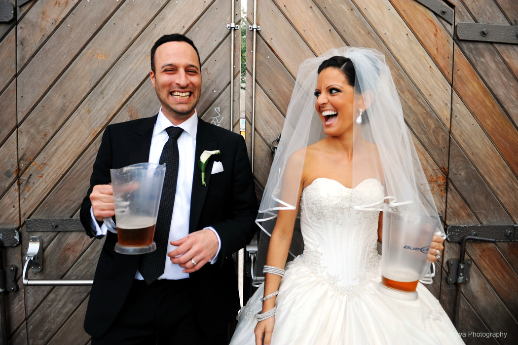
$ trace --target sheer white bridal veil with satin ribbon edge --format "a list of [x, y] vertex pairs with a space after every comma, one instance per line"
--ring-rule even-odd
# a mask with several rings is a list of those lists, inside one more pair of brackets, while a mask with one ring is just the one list
[[[325, 137], [315, 110], [314, 91], [320, 64], [332, 56], [348, 57], [356, 71], [355, 94], [366, 104], [362, 123], [354, 125], [352, 187], [369, 178], [384, 186], [384, 199], [371, 205], [354, 205], [357, 210], [398, 207], [406, 212], [428, 215], [439, 220], [437, 209], [403, 117], [399, 96], [383, 54], [375, 49], [343, 47], [331, 49], [303, 62], [286, 111], [281, 139], [271, 166], [256, 222], [260, 236], [256, 272], [265, 263], [269, 236], [281, 209], [294, 210], [299, 203], [298, 185], [303, 161], [288, 161], [295, 151], [305, 150]], [[358, 104], [353, 107], [356, 118]], [[295, 182], [295, 183], [290, 183]], [[291, 188], [296, 185], [297, 188]], [[440, 221], [437, 232], [443, 234]], [[297, 224], [290, 254], [303, 249]]]

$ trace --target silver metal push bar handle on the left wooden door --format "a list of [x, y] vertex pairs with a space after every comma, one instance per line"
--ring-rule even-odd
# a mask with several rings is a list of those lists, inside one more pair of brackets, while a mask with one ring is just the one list
[[41, 236], [31, 236], [29, 239], [29, 246], [27, 248], [27, 255], [25, 256], [25, 265], [23, 266], [23, 285], [27, 286], [71, 286], [71, 285], [92, 285], [93, 280], [46, 280], [27, 278], [27, 268], [30, 267], [33, 272], [39, 272], [42, 269], [40, 253]]

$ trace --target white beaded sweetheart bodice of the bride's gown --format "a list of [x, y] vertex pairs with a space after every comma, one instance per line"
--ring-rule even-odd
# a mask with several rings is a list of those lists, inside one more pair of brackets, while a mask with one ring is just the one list
[[380, 263], [379, 212], [353, 207], [382, 198], [383, 186], [377, 179], [366, 179], [352, 189], [335, 180], [315, 179], [300, 200], [304, 254], [294, 264], [310, 266], [348, 291], [373, 278]]

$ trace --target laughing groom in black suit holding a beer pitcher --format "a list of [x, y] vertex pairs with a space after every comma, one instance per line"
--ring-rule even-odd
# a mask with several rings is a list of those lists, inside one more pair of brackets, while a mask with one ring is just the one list
[[[162, 36], [151, 49], [150, 71], [159, 113], [104, 132], [80, 212], [88, 235], [106, 235], [84, 320], [94, 345], [226, 344], [226, 324], [240, 306], [232, 253], [250, 242], [258, 206], [243, 138], [198, 118], [200, 65], [189, 38]], [[154, 238], [164, 254], [158, 264], [152, 253], [119, 254], [117, 235], [102, 222], [114, 215], [110, 169], [162, 162], [170, 142], [177, 146], [177, 182], [169, 183], [176, 191], [168, 195], [172, 211], [161, 205]], [[204, 184], [197, 162], [214, 150], [220, 153], [209, 158]], [[158, 224], [169, 221], [160, 241]]]

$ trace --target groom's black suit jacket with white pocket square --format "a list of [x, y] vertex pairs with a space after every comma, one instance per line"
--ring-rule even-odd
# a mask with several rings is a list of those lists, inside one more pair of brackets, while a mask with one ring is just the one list
[[[90, 227], [90, 198], [93, 186], [110, 182], [110, 169], [148, 162], [153, 126], [157, 116], [109, 125], [104, 134], [90, 179], [90, 189], [81, 205], [80, 218], [87, 234]], [[256, 231], [257, 199], [244, 139], [231, 131], [198, 119], [195, 162], [204, 150], [220, 150], [206, 170], [193, 167], [189, 232], [212, 226], [221, 239], [217, 263], [192, 273], [189, 282], [196, 301], [195, 310], [207, 334], [212, 334], [234, 317], [240, 307], [238, 282], [231, 254], [246, 246]], [[223, 172], [211, 175], [214, 161]], [[133, 283], [140, 255], [114, 251], [117, 235], [108, 232], [99, 255], [94, 283], [84, 320], [93, 337], [102, 336], [124, 304]], [[214, 315], [218, 315], [215, 317]]]

